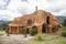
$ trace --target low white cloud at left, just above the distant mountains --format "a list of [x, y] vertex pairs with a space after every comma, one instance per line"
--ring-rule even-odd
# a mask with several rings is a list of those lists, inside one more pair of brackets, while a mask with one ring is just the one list
[[4, 10], [4, 11], [0, 11], [0, 20], [13, 20], [16, 16], [20, 16], [21, 14], [14, 11], [9, 11], [9, 10]]

